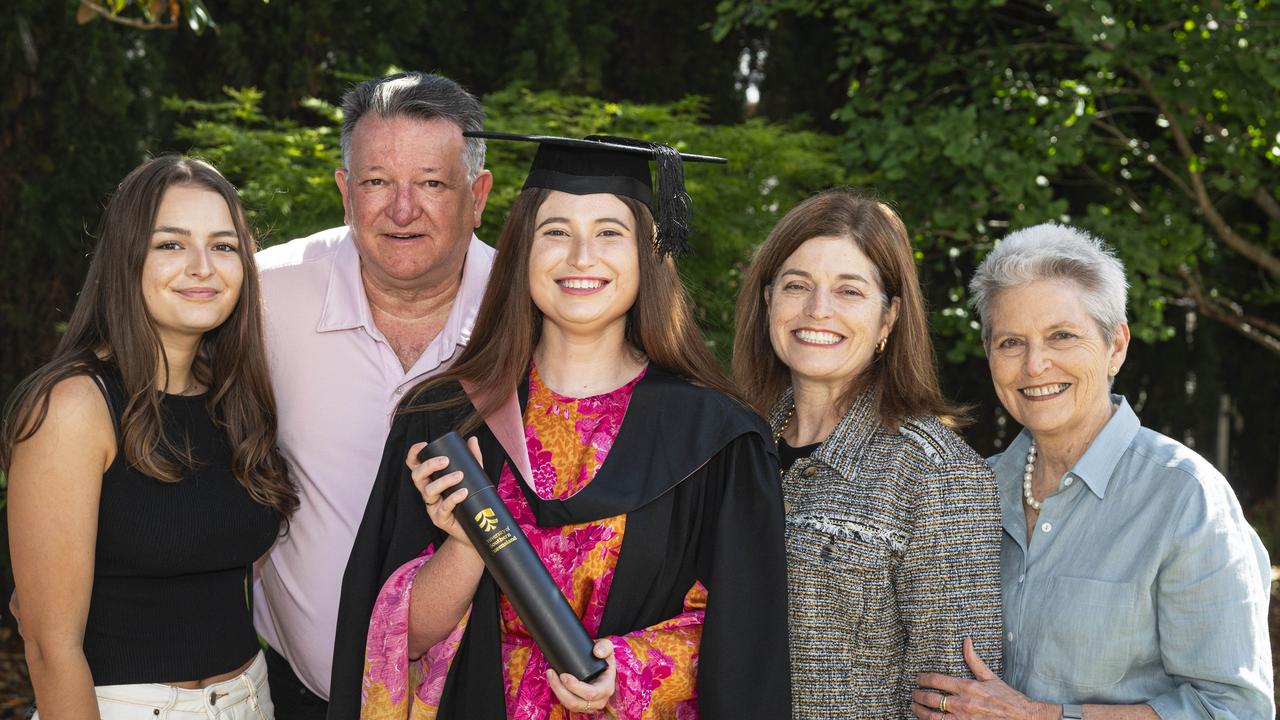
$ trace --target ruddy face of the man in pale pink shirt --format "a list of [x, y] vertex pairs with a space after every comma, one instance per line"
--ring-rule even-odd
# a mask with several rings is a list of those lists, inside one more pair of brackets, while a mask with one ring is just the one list
[[351, 136], [351, 168], [335, 173], [360, 250], [379, 287], [420, 290], [461, 272], [493, 176], [467, 181], [458, 126], [366, 115]]

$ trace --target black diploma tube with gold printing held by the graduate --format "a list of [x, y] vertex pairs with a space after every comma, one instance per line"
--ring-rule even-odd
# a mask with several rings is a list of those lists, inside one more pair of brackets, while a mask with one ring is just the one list
[[607, 665], [591, 653], [591, 637], [582, 629], [582, 623], [498, 497], [498, 489], [467, 450], [466, 442], [458, 433], [448, 433], [428, 443], [419, 454], [422, 460], [438, 456], [449, 459], [449, 466], [440, 470], [438, 477], [462, 471], [462, 482], [448, 492], [467, 488], [467, 498], [453, 509], [454, 518], [471, 538], [471, 544], [480, 553], [489, 574], [507, 594], [550, 666], [557, 673], [568, 673], [582, 682], [590, 682], [603, 673]]

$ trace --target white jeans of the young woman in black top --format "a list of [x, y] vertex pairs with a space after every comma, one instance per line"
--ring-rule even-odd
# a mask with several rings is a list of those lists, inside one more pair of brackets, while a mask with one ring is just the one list
[[[275, 720], [261, 652], [243, 673], [207, 688], [151, 683], [99, 685], [93, 692], [101, 720]], [[40, 712], [32, 717], [38, 720]]]

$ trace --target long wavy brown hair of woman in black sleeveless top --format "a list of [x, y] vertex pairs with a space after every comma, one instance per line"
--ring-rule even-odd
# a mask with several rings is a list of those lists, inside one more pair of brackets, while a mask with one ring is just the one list
[[128, 401], [120, 409], [120, 447], [129, 465], [146, 475], [177, 482], [191, 466], [184, 448], [164, 432], [155, 383], [168, 379], [169, 360], [142, 297], [142, 265], [151, 247], [156, 213], [170, 187], [216, 192], [227, 202], [237, 255], [244, 266], [239, 301], [223, 324], [200, 340], [193, 377], [209, 387], [207, 407], [227, 433], [232, 471], [257, 502], [287, 519], [298, 493], [275, 445], [275, 396], [268, 378], [262, 310], [253, 264], [256, 241], [236, 188], [212, 165], [165, 155], [137, 167], [102, 213], [97, 247], [84, 287], [52, 359], [27, 377], [5, 407], [0, 468], [9, 468], [14, 446], [31, 438], [49, 414], [54, 386], [76, 375], [96, 375], [101, 363], [119, 369]]

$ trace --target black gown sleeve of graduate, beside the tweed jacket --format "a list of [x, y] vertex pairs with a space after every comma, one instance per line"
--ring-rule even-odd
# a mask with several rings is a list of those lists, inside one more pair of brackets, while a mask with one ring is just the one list
[[699, 575], [707, 616], [698, 667], [704, 720], [791, 717], [787, 575], [777, 457], [756, 433], [710, 461]]

